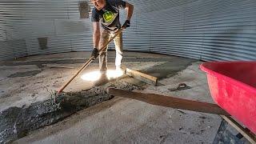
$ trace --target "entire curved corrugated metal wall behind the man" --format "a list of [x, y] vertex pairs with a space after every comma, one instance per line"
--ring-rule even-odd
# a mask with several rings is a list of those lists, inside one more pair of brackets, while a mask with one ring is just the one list
[[[0, 0], [0, 60], [91, 50], [90, 18], [79, 18], [79, 2]], [[206, 61], [256, 59], [255, 0], [127, 2], [135, 10], [125, 50]], [[41, 49], [38, 38], [47, 38], [48, 48]]]

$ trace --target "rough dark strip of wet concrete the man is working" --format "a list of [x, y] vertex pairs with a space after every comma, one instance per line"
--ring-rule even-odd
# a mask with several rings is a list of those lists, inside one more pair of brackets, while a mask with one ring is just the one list
[[63, 93], [62, 101], [56, 102], [53, 94], [51, 99], [32, 103], [28, 107], [10, 107], [0, 113], [0, 143], [13, 142], [32, 130], [52, 125], [79, 110], [114, 98], [106, 94], [108, 87], [123, 90], [141, 89], [128, 82], [110, 82], [90, 90]]

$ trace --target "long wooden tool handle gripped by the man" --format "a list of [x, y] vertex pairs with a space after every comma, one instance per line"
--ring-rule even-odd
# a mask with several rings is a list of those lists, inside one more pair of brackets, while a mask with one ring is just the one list
[[[114, 34], [114, 36], [113, 36], [112, 38], [110, 38], [110, 40], [109, 40], [108, 42], [106, 42], [106, 43], [102, 46], [102, 48], [101, 48], [100, 50], [98, 50], [98, 53], [102, 52], [102, 50], [105, 50], [105, 49], [106, 49], [106, 46], [107, 46], [108, 44], [110, 44], [110, 42], [113, 41], [113, 39], [114, 39], [118, 34], [120, 34], [120, 33], [122, 32], [122, 30], [123, 30], [123, 28], [119, 29], [119, 30], [117, 31], [117, 33]], [[75, 77], [77, 77], [78, 74], [80, 74], [80, 73], [82, 72], [82, 70], [85, 70], [85, 68], [86, 68], [87, 66], [89, 66], [90, 62], [93, 62], [93, 61], [94, 61], [94, 57], [90, 57], [90, 59], [89, 59], [88, 61], [86, 61], [86, 63], [78, 70], [78, 72], [77, 72], [76, 74], [74, 74], [74, 76], [73, 76], [72, 78], [70, 78], [70, 80], [69, 80], [68, 82], [66, 82], [66, 83], [58, 90], [58, 93], [57, 93], [57, 94], [62, 93], [62, 91], [66, 88], [66, 86], [68, 86], [68, 85], [70, 84], [70, 82], [72, 82], [73, 79], [74, 79]]]

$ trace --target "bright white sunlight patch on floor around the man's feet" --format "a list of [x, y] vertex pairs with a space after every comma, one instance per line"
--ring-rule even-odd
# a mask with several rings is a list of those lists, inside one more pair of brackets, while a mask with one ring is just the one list
[[[107, 70], [106, 76], [109, 79], [121, 77], [123, 74], [122, 70]], [[90, 73], [82, 74], [81, 78], [85, 81], [97, 81], [101, 76], [99, 71], [93, 71]]]

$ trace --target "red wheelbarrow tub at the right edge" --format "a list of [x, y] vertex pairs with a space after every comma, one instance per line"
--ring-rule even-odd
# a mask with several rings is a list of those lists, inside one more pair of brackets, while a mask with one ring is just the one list
[[256, 134], [256, 61], [206, 62], [214, 102]]

